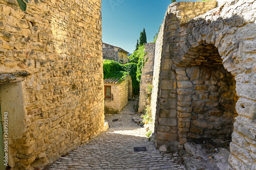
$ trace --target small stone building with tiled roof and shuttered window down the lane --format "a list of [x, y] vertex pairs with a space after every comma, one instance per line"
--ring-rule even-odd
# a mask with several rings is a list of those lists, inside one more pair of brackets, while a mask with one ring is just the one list
[[121, 81], [119, 78], [104, 80], [105, 113], [119, 113], [132, 99], [132, 78], [127, 76]]

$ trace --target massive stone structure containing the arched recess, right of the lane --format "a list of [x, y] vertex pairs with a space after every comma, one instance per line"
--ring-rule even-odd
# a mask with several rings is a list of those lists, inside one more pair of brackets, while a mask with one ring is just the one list
[[255, 0], [168, 7], [154, 62], [157, 147], [232, 137], [229, 168], [255, 169], [255, 14]]

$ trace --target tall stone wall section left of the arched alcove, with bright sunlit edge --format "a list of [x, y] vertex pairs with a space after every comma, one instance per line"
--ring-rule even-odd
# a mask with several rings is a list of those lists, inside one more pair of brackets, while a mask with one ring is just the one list
[[[188, 21], [216, 7], [210, 2], [176, 2], [169, 5], [156, 42], [152, 114], [156, 114], [155, 142], [157, 148], [166, 142], [178, 140], [177, 83], [170, 50], [173, 35], [180, 36], [180, 23]], [[178, 37], [180, 38], [180, 37]], [[177, 38], [177, 41], [178, 41]]]

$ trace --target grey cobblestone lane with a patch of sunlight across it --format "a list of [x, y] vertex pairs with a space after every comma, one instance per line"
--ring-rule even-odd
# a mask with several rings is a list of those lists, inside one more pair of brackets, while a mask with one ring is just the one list
[[[185, 169], [177, 153], [156, 150], [144, 128], [133, 122], [133, 113], [128, 113], [106, 115], [108, 131], [59, 158], [48, 169]], [[146, 147], [147, 151], [134, 152], [134, 147]]]

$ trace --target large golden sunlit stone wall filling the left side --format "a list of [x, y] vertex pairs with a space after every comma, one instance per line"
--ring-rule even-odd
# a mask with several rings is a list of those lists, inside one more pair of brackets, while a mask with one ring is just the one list
[[0, 0], [0, 60], [9, 166], [42, 167], [103, 131], [100, 0]]

